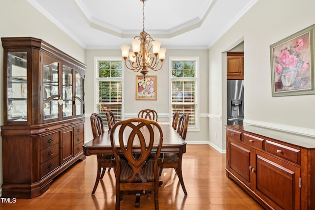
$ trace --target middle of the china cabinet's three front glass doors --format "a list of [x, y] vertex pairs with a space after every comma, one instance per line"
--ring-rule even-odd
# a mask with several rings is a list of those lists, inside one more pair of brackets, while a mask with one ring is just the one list
[[72, 116], [72, 68], [63, 65], [63, 117]]

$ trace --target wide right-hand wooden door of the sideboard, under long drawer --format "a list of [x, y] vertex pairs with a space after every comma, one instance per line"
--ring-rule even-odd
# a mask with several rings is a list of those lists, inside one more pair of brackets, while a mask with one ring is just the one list
[[300, 169], [256, 150], [254, 155], [254, 191], [282, 209], [299, 209]]

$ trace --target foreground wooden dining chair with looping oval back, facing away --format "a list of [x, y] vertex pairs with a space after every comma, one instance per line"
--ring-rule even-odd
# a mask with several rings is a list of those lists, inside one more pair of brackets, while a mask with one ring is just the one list
[[[118, 140], [115, 140], [115, 136]], [[111, 129], [110, 141], [115, 157], [116, 210], [120, 209], [124, 191], [136, 191], [135, 206], [139, 207], [138, 192], [142, 190], [154, 190], [155, 210], [158, 210], [158, 172], [162, 161], [159, 154], [163, 142], [163, 133], [158, 122], [143, 118], [121, 120]], [[118, 154], [118, 150], [123, 155]], [[148, 158], [150, 154], [155, 154], [155, 158]]]

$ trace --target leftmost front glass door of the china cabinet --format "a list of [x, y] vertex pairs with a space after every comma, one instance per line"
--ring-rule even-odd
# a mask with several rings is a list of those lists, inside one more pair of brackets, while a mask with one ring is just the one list
[[[45, 63], [47, 61], [47, 63]], [[59, 62], [44, 60], [43, 64], [43, 118], [59, 118]]]

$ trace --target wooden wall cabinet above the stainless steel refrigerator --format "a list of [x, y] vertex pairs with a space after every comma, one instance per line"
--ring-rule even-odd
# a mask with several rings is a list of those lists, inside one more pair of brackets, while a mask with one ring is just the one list
[[227, 52], [227, 79], [244, 79], [244, 52]]

